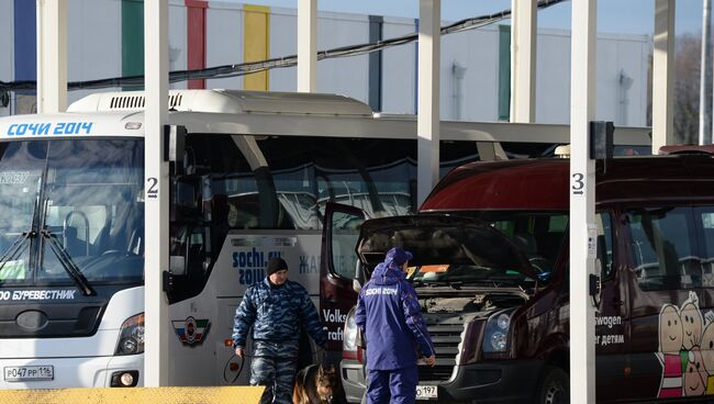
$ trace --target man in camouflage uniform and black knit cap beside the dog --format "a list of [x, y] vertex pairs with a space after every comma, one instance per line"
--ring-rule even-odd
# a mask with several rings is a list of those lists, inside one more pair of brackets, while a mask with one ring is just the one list
[[288, 280], [288, 263], [282, 258], [271, 258], [266, 272], [266, 279], [248, 288], [235, 311], [233, 346], [243, 358], [253, 327], [250, 385], [266, 386], [261, 404], [290, 404], [301, 327], [321, 347], [327, 341], [327, 334], [305, 288]]

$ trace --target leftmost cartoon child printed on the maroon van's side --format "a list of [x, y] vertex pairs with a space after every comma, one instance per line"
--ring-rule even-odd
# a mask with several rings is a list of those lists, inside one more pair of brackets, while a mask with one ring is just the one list
[[682, 396], [682, 361], [680, 349], [684, 340], [684, 330], [679, 308], [665, 304], [659, 311], [659, 352], [657, 359], [662, 363], [662, 380], [659, 384], [658, 399]]

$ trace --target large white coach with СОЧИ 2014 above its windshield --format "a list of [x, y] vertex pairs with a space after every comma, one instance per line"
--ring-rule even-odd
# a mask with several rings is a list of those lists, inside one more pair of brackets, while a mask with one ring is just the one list
[[[143, 105], [99, 93], [0, 119], [0, 388], [143, 384]], [[169, 108], [187, 133], [170, 181], [169, 381], [245, 383], [225, 344], [245, 289], [280, 255], [317, 302], [328, 202], [415, 212], [416, 120], [327, 94], [180, 90]], [[442, 171], [551, 154], [568, 131], [443, 122]], [[648, 130], [615, 143], [648, 153]], [[321, 310], [337, 352], [343, 314]]]

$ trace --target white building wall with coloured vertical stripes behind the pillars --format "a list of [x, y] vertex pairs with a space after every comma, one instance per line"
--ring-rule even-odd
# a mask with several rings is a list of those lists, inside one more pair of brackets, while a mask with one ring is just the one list
[[[34, 49], [23, 49], [20, 59], [15, 60], [14, 47], [18, 41], [15, 38], [13, 42], [12, 36], [18, 32], [16, 27], [13, 29], [13, 23], [19, 21], [16, 15], [13, 19], [16, 1], [0, 2], [0, 30], [5, 32], [0, 40], [0, 47], [4, 49], [4, 55], [10, 55], [0, 60], [0, 80], [3, 81], [34, 78], [34, 71], [24, 71], [31, 66]], [[121, 77], [130, 71], [143, 72], [143, 37], [136, 35], [143, 34], [143, 20], [141, 14], [136, 14], [137, 11], [141, 12], [141, 0], [68, 2], [69, 81]], [[192, 8], [191, 12], [188, 11], [189, 7]], [[197, 8], [204, 12], [196, 12]], [[32, 12], [32, 9], [24, 8], [23, 12]], [[248, 20], [246, 12], [249, 13]], [[256, 24], [256, 21], [259, 23]], [[417, 23], [414, 19], [321, 12], [317, 19], [317, 49], [365, 44], [369, 42], [370, 34], [372, 38], [381, 36], [383, 40], [413, 34], [417, 32]], [[255, 59], [255, 55], [261, 54], [270, 58], [295, 55], [297, 29], [294, 9], [223, 1], [170, 0], [169, 67], [171, 70], [185, 70], [189, 66], [189, 59], [191, 68], [197, 68], [241, 64], [246, 58]], [[507, 92], [499, 91], [499, 82], [503, 81], [499, 70], [501, 75], [504, 71], [500, 64], [510, 63], [510, 58], [503, 54], [506, 44], [504, 41], [509, 38], [507, 30], [506, 35], [501, 31], [503, 30], [499, 30], [498, 25], [490, 25], [442, 37], [442, 119], [499, 120], [499, 102], [502, 106], [507, 102]], [[27, 44], [33, 43], [29, 38], [25, 41]], [[599, 36], [599, 120], [611, 120], [618, 125], [646, 124], [650, 54], [649, 36]], [[381, 61], [379, 54], [319, 61], [317, 91], [349, 96], [370, 103], [377, 111], [415, 113], [416, 56], [417, 45], [413, 42], [382, 50]], [[18, 66], [23, 71], [18, 71]], [[170, 87], [188, 86], [188, 82], [177, 82]], [[192, 81], [191, 87], [294, 91], [297, 67], [272, 69], [261, 80], [255, 80], [254, 77], [230, 77]], [[116, 89], [91, 91], [108, 90]], [[89, 92], [90, 90], [71, 91], [69, 102]], [[0, 114], [23, 112], [20, 103], [16, 105], [16, 111], [0, 108]], [[569, 113], [570, 34], [566, 31], [539, 30], [536, 122], [567, 123]], [[503, 111], [501, 114], [503, 116]]]

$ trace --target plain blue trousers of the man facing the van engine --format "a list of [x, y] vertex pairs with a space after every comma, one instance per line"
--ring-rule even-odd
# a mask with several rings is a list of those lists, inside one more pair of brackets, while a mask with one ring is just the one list
[[394, 370], [369, 370], [368, 404], [413, 404], [416, 401], [416, 364]]

